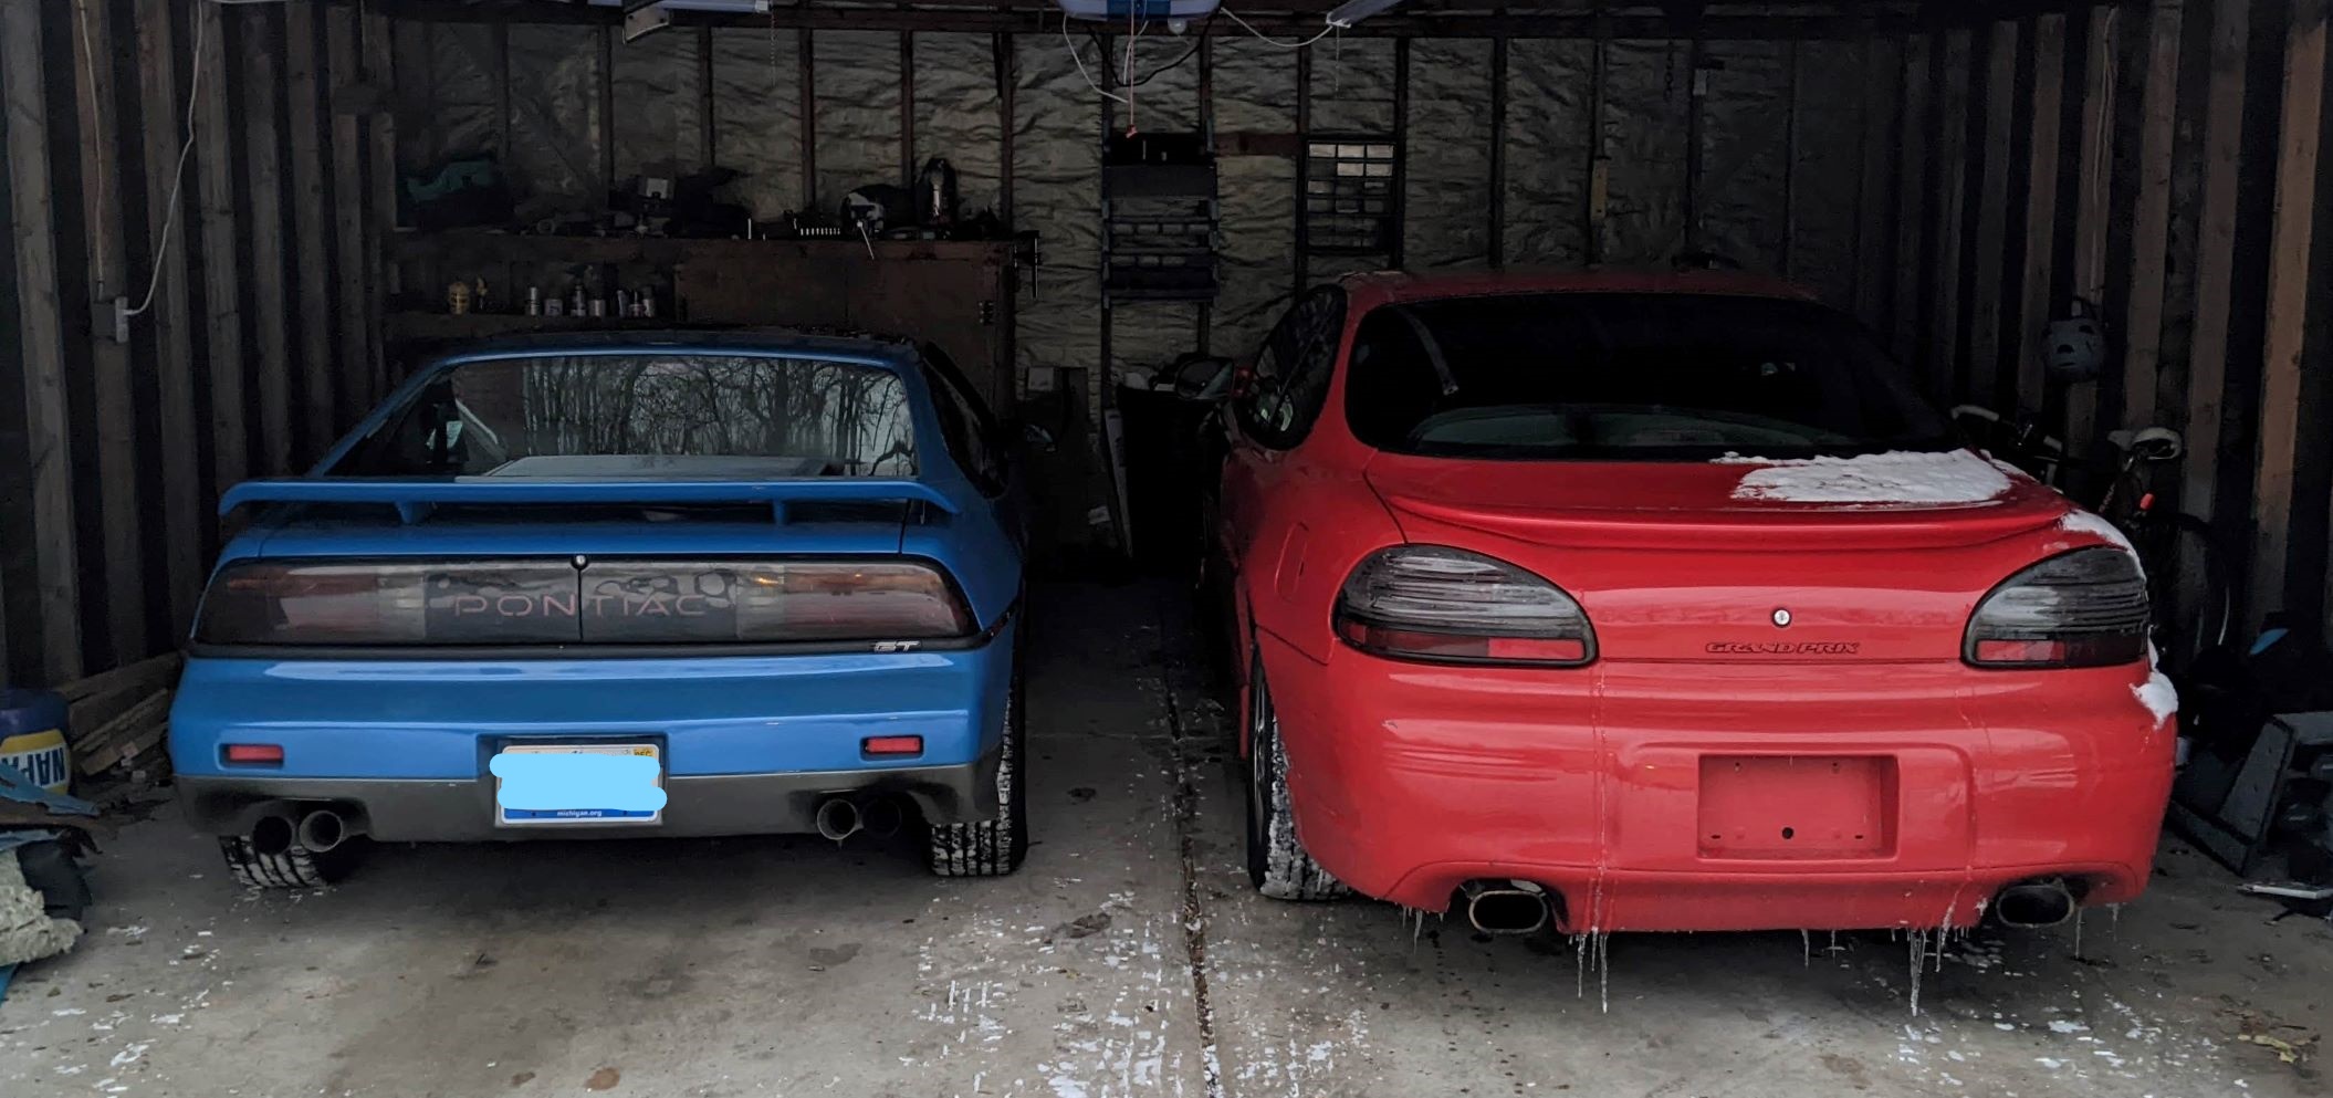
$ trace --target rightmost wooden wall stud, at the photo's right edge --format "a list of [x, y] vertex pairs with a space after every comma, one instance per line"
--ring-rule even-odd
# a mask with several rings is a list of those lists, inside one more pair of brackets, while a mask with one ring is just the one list
[[[2300, 373], [2317, 231], [2317, 145], [2326, 98], [2326, 0], [2293, 0], [2277, 133], [2277, 207], [2268, 259], [2268, 350], [2261, 361], [2261, 450], [2251, 497], [2254, 555], [2244, 620], [2284, 608], [2293, 471], [2300, 462]], [[2321, 583], [2307, 578], [2307, 583]]]

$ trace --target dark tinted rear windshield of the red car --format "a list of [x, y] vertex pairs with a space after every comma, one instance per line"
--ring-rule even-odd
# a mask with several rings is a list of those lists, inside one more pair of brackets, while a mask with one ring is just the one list
[[1381, 305], [1353, 434], [1409, 455], [1820, 457], [1950, 450], [1948, 422], [1848, 317], [1717, 294], [1516, 294]]

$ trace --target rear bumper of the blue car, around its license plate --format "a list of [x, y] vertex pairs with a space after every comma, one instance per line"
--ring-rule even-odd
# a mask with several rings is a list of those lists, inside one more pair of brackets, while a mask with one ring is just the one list
[[[397, 842], [807, 832], [821, 800], [877, 793], [966, 823], [996, 807], [1013, 643], [1008, 625], [929, 653], [194, 657], [170, 762], [189, 821], [217, 835], [327, 802]], [[922, 737], [922, 753], [868, 755], [870, 737]], [[278, 746], [282, 762], [226, 762], [229, 744]], [[492, 758], [544, 744], [653, 746], [660, 823], [497, 825]]]

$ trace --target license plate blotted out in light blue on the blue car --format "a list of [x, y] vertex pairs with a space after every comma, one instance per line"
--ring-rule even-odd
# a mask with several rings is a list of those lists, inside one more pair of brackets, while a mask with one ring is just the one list
[[495, 823], [653, 825], [665, 821], [656, 744], [511, 744], [495, 753]]

